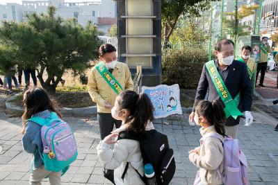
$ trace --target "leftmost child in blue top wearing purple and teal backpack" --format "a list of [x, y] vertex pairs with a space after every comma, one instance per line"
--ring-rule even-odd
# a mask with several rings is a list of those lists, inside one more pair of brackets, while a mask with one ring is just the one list
[[41, 184], [48, 177], [50, 184], [59, 185], [61, 175], [77, 157], [74, 134], [44, 90], [28, 89], [23, 102], [22, 144], [32, 154], [29, 182]]

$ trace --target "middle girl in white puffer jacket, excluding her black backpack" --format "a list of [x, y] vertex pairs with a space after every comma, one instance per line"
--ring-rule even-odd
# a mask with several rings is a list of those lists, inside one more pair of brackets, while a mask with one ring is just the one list
[[[105, 168], [114, 170], [114, 181], [117, 185], [141, 185], [144, 176], [144, 166], [140, 152], [140, 143], [131, 139], [120, 139], [117, 136], [126, 130], [140, 134], [145, 130], [154, 129], [153, 107], [147, 94], [136, 94], [134, 91], [124, 91], [117, 96], [111, 111], [113, 118], [122, 121], [122, 126], [101, 140], [97, 146], [97, 155]], [[115, 144], [113, 150], [111, 144]], [[126, 163], [129, 167], [122, 179]], [[138, 175], [140, 173], [140, 176]]]

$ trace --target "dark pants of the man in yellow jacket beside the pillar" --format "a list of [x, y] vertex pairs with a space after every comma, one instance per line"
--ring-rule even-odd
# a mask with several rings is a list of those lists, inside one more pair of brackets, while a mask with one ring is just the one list
[[98, 112], [97, 119], [99, 121], [99, 132], [101, 140], [111, 134], [114, 124], [116, 128], [122, 125], [122, 121], [115, 120], [115, 118], [112, 117], [111, 113]]

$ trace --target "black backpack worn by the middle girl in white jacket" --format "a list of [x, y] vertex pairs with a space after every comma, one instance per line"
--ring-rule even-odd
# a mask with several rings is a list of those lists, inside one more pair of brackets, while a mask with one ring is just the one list
[[[145, 131], [140, 135], [123, 131], [119, 133], [119, 139], [139, 141], [143, 163], [144, 165], [152, 164], [154, 167], [156, 183], [158, 185], [170, 184], [176, 170], [176, 164], [174, 162], [174, 151], [172, 148], [169, 148], [168, 139], [165, 134], [161, 134], [161, 132], [157, 132], [156, 130]], [[128, 164], [126, 164], [122, 179], [124, 178]], [[147, 182], [146, 177], [141, 177], [141, 179], [145, 183]]]

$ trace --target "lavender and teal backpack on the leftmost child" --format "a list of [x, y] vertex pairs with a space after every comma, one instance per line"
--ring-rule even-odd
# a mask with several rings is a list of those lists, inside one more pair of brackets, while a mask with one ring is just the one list
[[78, 155], [76, 141], [70, 125], [60, 119], [55, 112], [49, 118], [38, 116], [28, 119], [42, 125], [41, 137], [43, 152], [41, 155], [44, 168], [64, 174]]

